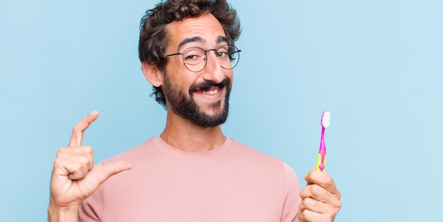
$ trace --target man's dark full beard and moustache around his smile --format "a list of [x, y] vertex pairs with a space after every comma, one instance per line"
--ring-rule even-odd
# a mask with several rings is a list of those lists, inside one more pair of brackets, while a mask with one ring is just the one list
[[[193, 124], [197, 124], [200, 127], [217, 127], [220, 124], [224, 124], [228, 118], [229, 112], [229, 94], [231, 93], [231, 81], [228, 78], [224, 78], [221, 83], [213, 83], [205, 81], [199, 84], [193, 84], [189, 89], [189, 97], [185, 95], [183, 90], [180, 90], [178, 86], [173, 86], [168, 74], [164, 76], [164, 86], [162, 88], [163, 95], [168, 101], [168, 108], [185, 119], [190, 120]], [[207, 115], [200, 109], [192, 98], [192, 92], [199, 90], [209, 90], [209, 88], [216, 86], [219, 90], [226, 88], [226, 95], [224, 97], [224, 103], [222, 100], [211, 104], [214, 115]], [[223, 106], [223, 107], [222, 107]]]

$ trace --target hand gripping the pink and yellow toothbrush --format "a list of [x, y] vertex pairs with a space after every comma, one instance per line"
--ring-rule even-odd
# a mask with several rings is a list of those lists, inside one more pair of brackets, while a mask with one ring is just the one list
[[308, 184], [300, 191], [299, 221], [334, 221], [341, 203], [333, 179], [313, 168], [304, 180]]

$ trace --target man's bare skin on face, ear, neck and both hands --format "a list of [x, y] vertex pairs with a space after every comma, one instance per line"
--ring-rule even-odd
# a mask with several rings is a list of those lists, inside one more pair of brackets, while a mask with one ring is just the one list
[[[183, 49], [192, 46], [217, 49], [227, 43], [220, 41], [225, 36], [222, 25], [209, 13], [173, 22], [167, 26], [167, 30], [171, 33], [171, 42], [166, 54], [183, 52]], [[195, 37], [198, 41], [180, 45], [183, 40], [196, 39]], [[169, 81], [175, 88], [182, 90], [188, 98], [190, 98], [190, 86], [193, 84], [204, 81], [220, 83], [224, 78], [228, 78], [232, 83], [232, 70], [223, 69], [214, 53], [209, 52], [207, 55], [205, 69], [197, 73], [185, 68], [181, 56], [169, 58], [166, 66]], [[164, 86], [164, 74], [156, 66], [143, 62], [142, 70], [153, 86]], [[200, 111], [213, 117], [224, 107], [226, 87], [221, 89], [213, 87], [209, 90], [217, 90], [217, 93], [209, 94], [196, 90], [192, 92], [192, 98]], [[214, 105], [216, 103], [221, 105]], [[168, 99], [166, 104], [170, 107]], [[60, 148], [57, 153], [50, 185], [48, 206], [50, 221], [78, 221], [81, 201], [89, 197], [109, 177], [132, 168], [132, 165], [126, 162], [93, 165], [93, 149], [91, 146], [81, 145], [81, 142], [84, 132], [97, 118], [96, 111], [84, 117], [72, 130], [69, 146]], [[220, 125], [201, 127], [171, 109], [167, 111], [166, 127], [160, 136], [167, 144], [188, 152], [209, 151], [226, 141]], [[332, 178], [326, 173], [311, 171], [306, 174], [305, 180], [308, 185], [300, 192], [302, 201], [298, 209], [299, 221], [333, 221], [340, 209], [340, 193]]]

